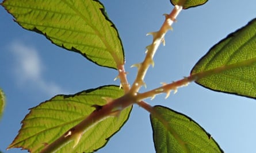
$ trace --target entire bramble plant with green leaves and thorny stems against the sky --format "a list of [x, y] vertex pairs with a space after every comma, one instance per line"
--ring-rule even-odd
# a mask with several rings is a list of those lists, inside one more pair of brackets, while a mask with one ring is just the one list
[[[190, 117], [145, 99], [177, 92], [190, 82], [214, 91], [256, 98], [256, 19], [213, 46], [190, 72], [190, 76], [140, 92], [148, 68], [154, 67], [158, 46], [182, 9], [203, 5], [207, 0], [171, 0], [174, 5], [157, 32], [146, 57], [130, 84], [124, 68], [124, 49], [116, 27], [97, 0], [22, 1], [1, 4], [24, 29], [43, 34], [53, 44], [82, 54], [97, 65], [117, 70], [120, 85], [104, 85], [74, 95], [57, 95], [30, 109], [10, 148], [29, 152], [94, 152], [104, 147], [128, 120], [133, 105], [150, 113], [156, 152], [223, 152], [208, 132]], [[72, 23], [70, 27], [68, 22]], [[0, 91], [0, 113], [4, 98]], [[47, 112], [47, 113], [45, 113]], [[42, 125], [43, 124], [43, 125]]]

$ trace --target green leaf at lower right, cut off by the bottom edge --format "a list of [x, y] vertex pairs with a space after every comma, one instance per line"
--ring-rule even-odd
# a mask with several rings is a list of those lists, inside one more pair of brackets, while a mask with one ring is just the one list
[[150, 115], [150, 120], [156, 152], [223, 152], [190, 117], [160, 105], [153, 109], [155, 114]]

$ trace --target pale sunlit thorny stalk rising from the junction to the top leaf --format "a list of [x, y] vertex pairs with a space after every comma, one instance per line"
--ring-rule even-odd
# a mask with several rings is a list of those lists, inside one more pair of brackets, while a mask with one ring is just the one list
[[147, 69], [149, 68], [150, 64], [154, 66], [153, 57], [155, 55], [155, 52], [158, 49], [158, 46], [161, 44], [161, 42], [163, 42], [163, 44], [165, 45], [165, 34], [167, 33], [168, 30], [171, 29], [171, 25], [173, 24], [175, 18], [177, 17], [181, 10], [182, 6], [176, 5], [170, 14], [165, 14], [166, 19], [165, 22], [163, 22], [161, 29], [158, 32], [148, 33], [152, 34], [153, 41], [151, 45], [147, 46], [147, 55], [144, 61], [141, 64], [133, 65], [137, 66], [138, 73], [134, 83], [132, 84], [130, 91], [131, 93], [137, 93], [140, 87], [144, 85], [143, 80], [144, 77], [146, 76]]

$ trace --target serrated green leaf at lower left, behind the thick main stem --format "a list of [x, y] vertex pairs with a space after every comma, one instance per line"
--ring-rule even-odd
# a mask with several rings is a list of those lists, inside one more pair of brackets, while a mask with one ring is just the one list
[[[91, 112], [94, 105], [105, 105], [102, 97], [117, 98], [124, 92], [117, 86], [89, 89], [75, 95], [58, 95], [30, 109], [22, 121], [22, 127], [8, 148], [21, 147], [30, 152], [40, 152], [44, 144], [51, 144], [66, 131], [80, 123]], [[119, 117], [110, 116], [93, 125], [82, 135], [78, 145], [67, 143], [57, 152], [93, 152], [103, 147], [109, 138], [127, 121], [131, 107], [124, 109]], [[73, 148], [74, 147], [74, 148]]]

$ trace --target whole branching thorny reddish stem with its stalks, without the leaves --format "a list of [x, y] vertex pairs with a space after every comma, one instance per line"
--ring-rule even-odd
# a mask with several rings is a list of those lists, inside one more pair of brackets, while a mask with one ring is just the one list
[[[79, 124], [72, 127], [70, 130], [68, 130], [65, 134], [63, 134], [60, 138], [56, 139], [51, 144], [46, 144], [43, 150], [40, 151], [40, 153], [48, 153], [48, 152], [55, 152], [56, 150], [60, 149], [64, 144], [74, 140], [74, 147], [79, 143], [79, 140], [83, 133], [88, 130], [89, 128], [93, 127], [93, 125], [99, 123], [100, 121], [106, 119], [107, 117], [111, 116], [118, 116], [121, 111], [123, 111], [125, 108], [135, 104], [139, 103], [137, 101], [140, 101], [139, 99], [143, 99], [143, 97], [148, 96], [152, 97], [153, 95], [157, 94], [156, 91], [150, 91], [146, 92], [140, 95], [135, 95], [134, 93], [137, 93], [139, 91], [139, 88], [144, 84], [143, 80], [146, 75], [147, 69], [152, 64], [154, 66], [153, 57], [156, 52], [156, 49], [158, 49], [158, 46], [163, 42], [165, 43], [164, 37], [168, 30], [171, 29], [172, 23], [175, 21], [175, 18], [179, 14], [179, 12], [182, 10], [181, 6], [175, 6], [173, 11], [171, 11], [170, 14], [165, 14], [165, 22], [163, 23], [161, 29], [158, 32], [150, 33], [153, 35], [153, 41], [152, 44], [147, 46], [147, 55], [145, 60], [138, 66], [138, 73], [135, 82], [132, 85], [132, 88], [129, 88], [129, 84], [126, 77], [126, 72], [124, 69], [124, 65], [118, 65], [119, 70], [119, 79], [121, 82], [121, 87], [123, 87], [125, 91], [125, 95], [115, 99], [113, 101], [109, 101], [106, 105], [96, 108], [95, 111], [93, 111], [89, 116], [86, 116], [85, 119], [83, 119]], [[177, 84], [178, 85], [178, 84]], [[169, 88], [167, 87], [161, 87], [166, 91]], [[172, 89], [172, 88], [171, 88]], [[170, 91], [170, 89], [169, 89]], [[165, 92], [165, 91], [162, 91]], [[160, 92], [159, 92], [160, 93]], [[143, 105], [144, 103], [141, 103], [139, 105], [143, 106], [148, 112], [154, 111], [150, 105]], [[146, 104], [146, 103], [145, 103]]]

